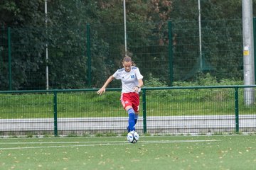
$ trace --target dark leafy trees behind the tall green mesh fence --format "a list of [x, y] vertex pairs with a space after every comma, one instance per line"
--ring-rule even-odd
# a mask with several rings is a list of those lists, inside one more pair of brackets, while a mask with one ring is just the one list
[[[0, 1], [1, 90], [7, 89], [9, 83], [8, 27], [14, 89], [45, 89], [46, 64], [50, 88], [88, 87], [88, 23], [92, 87], [100, 86], [119, 67], [124, 55], [123, 2], [48, 0], [47, 25], [44, 3], [44, 0]], [[169, 81], [169, 42], [174, 45], [174, 79], [185, 79], [191, 72], [198, 60], [197, 3], [198, 0], [126, 0], [127, 47], [145, 77]], [[241, 77], [241, 18], [241, 1], [201, 0], [203, 55], [218, 69], [212, 74], [219, 79], [230, 77], [220, 76], [220, 72], [233, 72], [233, 77]], [[173, 23], [174, 40], [168, 37], [168, 21]], [[233, 69], [217, 67], [227, 61]], [[117, 82], [111, 85], [119, 86]]]

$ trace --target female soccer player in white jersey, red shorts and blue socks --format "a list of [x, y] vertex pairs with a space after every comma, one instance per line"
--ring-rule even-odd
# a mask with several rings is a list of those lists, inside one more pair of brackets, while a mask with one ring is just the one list
[[128, 119], [128, 132], [135, 130], [135, 124], [139, 118], [139, 91], [143, 86], [143, 76], [139, 72], [138, 67], [134, 67], [134, 62], [129, 56], [124, 57], [122, 60], [122, 69], [118, 69], [112, 76], [110, 76], [102, 88], [97, 91], [97, 94], [104, 94], [106, 87], [113, 79], [121, 79], [122, 81], [122, 94], [121, 103], [125, 111], [129, 115]]

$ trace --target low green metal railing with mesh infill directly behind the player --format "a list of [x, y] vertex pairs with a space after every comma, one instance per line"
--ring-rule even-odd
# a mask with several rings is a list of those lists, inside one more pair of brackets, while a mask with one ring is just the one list
[[[137, 131], [149, 134], [256, 132], [254, 86], [142, 88]], [[250, 91], [245, 91], [245, 89]], [[121, 89], [0, 91], [0, 135], [126, 132]], [[253, 96], [250, 104], [247, 95]]]

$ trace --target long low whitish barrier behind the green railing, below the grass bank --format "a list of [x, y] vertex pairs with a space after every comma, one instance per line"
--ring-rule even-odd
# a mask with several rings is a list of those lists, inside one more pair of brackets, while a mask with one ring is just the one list
[[[147, 128], [149, 132], [178, 129], [188, 133], [214, 132], [216, 129], [235, 129], [235, 117], [232, 115], [195, 115], [195, 116], [149, 116]], [[0, 131], [52, 131], [53, 118], [2, 119]], [[113, 130], [124, 131], [127, 127], [126, 117], [113, 118], [58, 118], [58, 130]], [[240, 128], [255, 128], [256, 115], [240, 115]], [[137, 130], [143, 129], [142, 119], [138, 121]]]

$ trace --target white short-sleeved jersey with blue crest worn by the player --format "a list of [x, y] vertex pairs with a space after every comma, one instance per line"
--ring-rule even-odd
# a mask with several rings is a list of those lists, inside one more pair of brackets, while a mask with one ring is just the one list
[[[132, 66], [130, 72], [126, 72], [124, 68], [118, 69], [113, 74], [114, 79], [121, 79], [122, 93], [134, 92], [134, 87], [139, 85], [138, 79], [143, 79], [138, 67]], [[140, 89], [139, 89], [140, 91]]]

